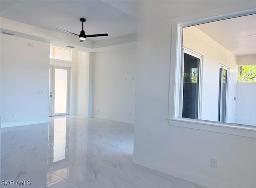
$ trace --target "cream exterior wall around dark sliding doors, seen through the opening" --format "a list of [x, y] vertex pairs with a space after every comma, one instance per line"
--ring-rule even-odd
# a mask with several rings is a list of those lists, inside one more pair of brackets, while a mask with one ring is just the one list
[[218, 121], [220, 64], [229, 68], [227, 122], [234, 123], [236, 103], [236, 57], [196, 26], [183, 29], [184, 47], [202, 55], [202, 116], [201, 119]]

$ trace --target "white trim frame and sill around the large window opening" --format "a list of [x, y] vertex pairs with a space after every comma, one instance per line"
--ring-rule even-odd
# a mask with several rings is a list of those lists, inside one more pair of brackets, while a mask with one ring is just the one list
[[206, 121], [200, 119], [180, 118], [180, 79], [183, 55], [183, 27], [256, 14], [256, 8], [251, 7], [251, 4], [245, 4], [244, 6], [236, 5], [225, 7], [222, 9], [220, 8], [218, 9], [218, 11], [210, 10], [195, 14], [193, 16], [184, 16], [172, 20], [169, 105], [167, 118], [169, 125], [256, 138], [256, 126], [222, 123], [218, 121]]

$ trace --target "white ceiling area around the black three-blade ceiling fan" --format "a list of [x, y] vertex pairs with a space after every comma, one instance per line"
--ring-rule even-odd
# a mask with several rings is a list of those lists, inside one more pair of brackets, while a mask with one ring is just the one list
[[109, 35], [88, 39], [94, 41], [136, 33], [136, 3], [100, 0], [1, 0], [0, 16], [44, 29], [57, 31], [56, 28], [60, 28], [77, 34], [82, 30], [80, 18], [86, 18], [84, 30], [87, 35]]

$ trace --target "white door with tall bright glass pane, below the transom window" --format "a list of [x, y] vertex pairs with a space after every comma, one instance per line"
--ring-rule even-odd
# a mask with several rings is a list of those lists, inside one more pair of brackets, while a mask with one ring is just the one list
[[68, 114], [69, 69], [50, 66], [49, 116]]

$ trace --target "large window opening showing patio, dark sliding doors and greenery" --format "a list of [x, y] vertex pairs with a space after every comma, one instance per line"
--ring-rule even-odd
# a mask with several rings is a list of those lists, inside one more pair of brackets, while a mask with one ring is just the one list
[[251, 14], [181, 29], [180, 118], [256, 126], [255, 20]]

